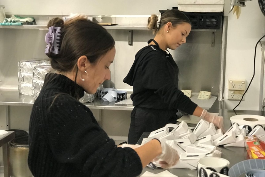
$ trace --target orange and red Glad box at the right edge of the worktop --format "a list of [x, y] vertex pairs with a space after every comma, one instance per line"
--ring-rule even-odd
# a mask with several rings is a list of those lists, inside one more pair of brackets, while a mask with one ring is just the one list
[[245, 137], [247, 154], [250, 159], [265, 159], [265, 152], [263, 151], [259, 139], [253, 135]]

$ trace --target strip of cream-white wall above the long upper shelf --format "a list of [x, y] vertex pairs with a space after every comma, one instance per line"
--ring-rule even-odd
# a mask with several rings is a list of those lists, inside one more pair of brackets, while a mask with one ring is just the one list
[[172, 9], [176, 0], [1, 0], [6, 14], [67, 15], [83, 13], [88, 15], [149, 15], [158, 10]]

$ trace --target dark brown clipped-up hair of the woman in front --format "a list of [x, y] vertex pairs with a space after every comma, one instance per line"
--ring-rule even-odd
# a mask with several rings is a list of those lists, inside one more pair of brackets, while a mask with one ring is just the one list
[[113, 37], [105, 28], [82, 16], [65, 23], [61, 18], [53, 18], [47, 25], [48, 28], [50, 26], [61, 27], [59, 54], [46, 54], [51, 58], [52, 68], [59, 72], [75, 69], [82, 55], [87, 56], [90, 63], [96, 63], [115, 45]]

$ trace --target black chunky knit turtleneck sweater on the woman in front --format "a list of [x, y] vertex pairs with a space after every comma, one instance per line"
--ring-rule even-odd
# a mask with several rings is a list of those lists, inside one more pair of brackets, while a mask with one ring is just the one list
[[78, 101], [83, 95], [64, 75], [46, 75], [30, 116], [28, 164], [34, 177], [139, 175], [136, 151], [115, 145]]

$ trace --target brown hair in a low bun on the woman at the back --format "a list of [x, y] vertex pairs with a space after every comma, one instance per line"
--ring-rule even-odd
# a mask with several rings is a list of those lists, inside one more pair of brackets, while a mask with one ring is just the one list
[[171, 9], [165, 11], [160, 20], [159, 27], [157, 28], [157, 15], [152, 14], [150, 17], [148, 17], [148, 24], [147, 27], [149, 30], [154, 30], [153, 33], [156, 33], [158, 30], [161, 29], [162, 26], [167, 24], [168, 22], [171, 22], [173, 26], [177, 26], [179, 24], [183, 23], [189, 23], [191, 24], [190, 19], [181, 11], [177, 9]]

